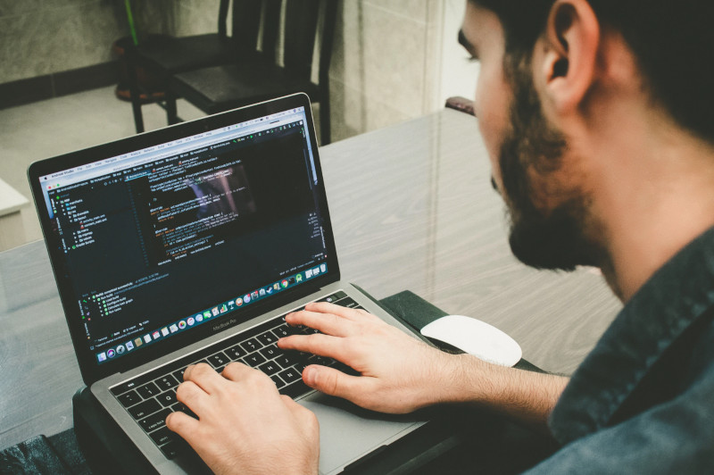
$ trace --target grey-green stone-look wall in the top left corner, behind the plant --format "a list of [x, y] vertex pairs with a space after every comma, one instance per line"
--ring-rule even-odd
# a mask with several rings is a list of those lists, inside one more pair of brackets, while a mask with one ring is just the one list
[[[219, 0], [133, 0], [137, 24], [179, 35], [216, 30]], [[129, 35], [123, 0], [0, 0], [0, 84], [112, 61]]]

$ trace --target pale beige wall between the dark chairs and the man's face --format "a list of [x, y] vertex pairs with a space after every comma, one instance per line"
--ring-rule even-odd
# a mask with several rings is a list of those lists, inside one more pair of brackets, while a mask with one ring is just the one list
[[345, 0], [329, 74], [334, 140], [435, 110], [442, 4]]

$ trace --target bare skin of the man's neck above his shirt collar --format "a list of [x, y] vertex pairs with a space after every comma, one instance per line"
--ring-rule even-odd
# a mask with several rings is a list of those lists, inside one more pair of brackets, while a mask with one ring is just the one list
[[714, 147], [661, 117], [620, 121], [598, 152], [596, 211], [607, 229], [603, 266], [610, 287], [629, 300], [695, 237], [714, 226]]

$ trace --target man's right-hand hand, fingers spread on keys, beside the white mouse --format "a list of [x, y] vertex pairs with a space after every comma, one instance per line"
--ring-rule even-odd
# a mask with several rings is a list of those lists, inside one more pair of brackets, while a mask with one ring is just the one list
[[283, 349], [335, 358], [359, 371], [347, 375], [325, 366], [303, 370], [303, 381], [332, 396], [367, 409], [405, 413], [444, 401], [444, 379], [453, 379], [451, 354], [445, 354], [363, 310], [335, 304], [308, 304], [286, 316], [288, 324], [319, 329], [323, 334], [278, 340]]

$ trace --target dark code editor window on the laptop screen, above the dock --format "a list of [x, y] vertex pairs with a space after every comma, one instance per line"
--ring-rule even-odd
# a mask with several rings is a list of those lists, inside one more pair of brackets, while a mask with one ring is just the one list
[[324, 254], [303, 133], [232, 141], [51, 193], [89, 345], [160, 328]]

